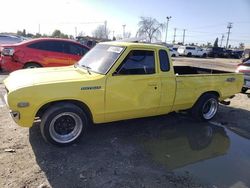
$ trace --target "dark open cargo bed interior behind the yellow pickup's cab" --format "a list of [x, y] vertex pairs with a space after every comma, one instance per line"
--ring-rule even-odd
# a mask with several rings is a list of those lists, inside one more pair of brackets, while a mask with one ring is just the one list
[[177, 75], [232, 73], [229, 71], [214, 70], [214, 69], [207, 69], [207, 68], [200, 68], [200, 67], [191, 67], [191, 66], [174, 66], [174, 72]]

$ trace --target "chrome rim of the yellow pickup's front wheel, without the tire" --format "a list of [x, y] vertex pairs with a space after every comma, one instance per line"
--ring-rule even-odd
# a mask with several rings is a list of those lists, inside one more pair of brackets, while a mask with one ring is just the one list
[[64, 112], [55, 116], [49, 126], [51, 138], [58, 143], [70, 143], [81, 134], [82, 119], [73, 112]]

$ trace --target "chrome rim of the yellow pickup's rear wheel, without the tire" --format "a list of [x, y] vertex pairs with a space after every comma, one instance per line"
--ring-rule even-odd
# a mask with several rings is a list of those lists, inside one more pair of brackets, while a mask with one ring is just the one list
[[218, 110], [218, 102], [214, 98], [210, 98], [206, 101], [202, 108], [202, 115], [204, 119], [212, 119]]

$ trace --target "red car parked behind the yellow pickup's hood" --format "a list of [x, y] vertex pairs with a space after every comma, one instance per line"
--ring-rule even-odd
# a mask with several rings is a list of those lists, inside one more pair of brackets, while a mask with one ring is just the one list
[[0, 67], [7, 72], [23, 68], [72, 65], [89, 51], [68, 39], [40, 38], [0, 47]]

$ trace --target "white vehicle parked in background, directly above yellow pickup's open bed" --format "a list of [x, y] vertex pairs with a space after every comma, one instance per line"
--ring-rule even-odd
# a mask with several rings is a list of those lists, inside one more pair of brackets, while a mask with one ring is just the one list
[[207, 57], [207, 51], [197, 46], [180, 46], [177, 51], [182, 56]]

